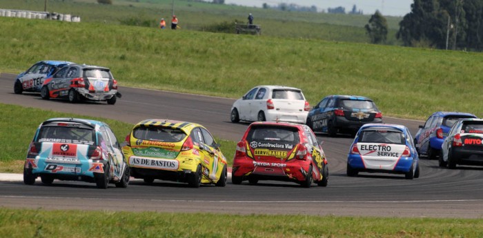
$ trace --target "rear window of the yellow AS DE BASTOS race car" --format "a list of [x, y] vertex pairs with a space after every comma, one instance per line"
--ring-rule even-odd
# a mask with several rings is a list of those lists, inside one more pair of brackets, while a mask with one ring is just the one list
[[139, 126], [134, 129], [132, 135], [136, 139], [163, 142], [179, 142], [186, 137], [182, 130], [162, 126]]

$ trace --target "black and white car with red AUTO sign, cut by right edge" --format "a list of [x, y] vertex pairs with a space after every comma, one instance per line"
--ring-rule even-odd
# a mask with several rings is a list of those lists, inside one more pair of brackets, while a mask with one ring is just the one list
[[457, 121], [442, 144], [440, 167], [483, 166], [483, 119]]

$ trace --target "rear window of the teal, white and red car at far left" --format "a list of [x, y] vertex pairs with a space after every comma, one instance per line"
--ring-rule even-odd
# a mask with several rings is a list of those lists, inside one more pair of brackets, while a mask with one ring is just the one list
[[94, 145], [95, 130], [68, 126], [42, 126], [37, 142], [78, 143]]

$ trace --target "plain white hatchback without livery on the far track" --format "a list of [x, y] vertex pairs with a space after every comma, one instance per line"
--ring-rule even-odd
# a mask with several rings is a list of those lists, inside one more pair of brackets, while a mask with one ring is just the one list
[[308, 101], [298, 88], [257, 86], [233, 103], [230, 120], [305, 123], [309, 110]]

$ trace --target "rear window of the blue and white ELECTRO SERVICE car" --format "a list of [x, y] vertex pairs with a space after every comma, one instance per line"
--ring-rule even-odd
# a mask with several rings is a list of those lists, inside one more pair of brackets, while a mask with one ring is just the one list
[[404, 134], [391, 128], [368, 128], [359, 134], [359, 141], [363, 143], [396, 143], [405, 144]]

